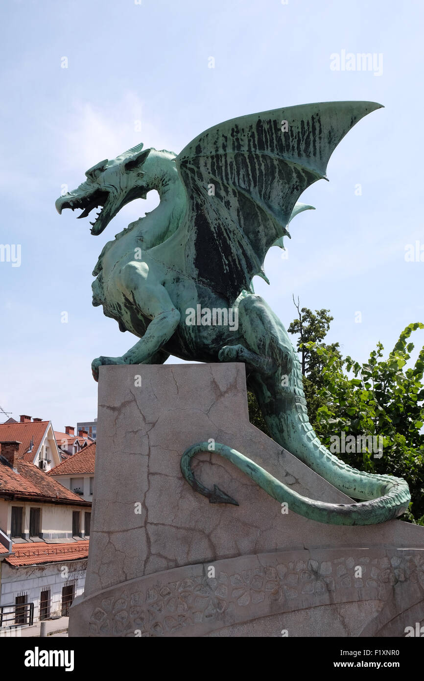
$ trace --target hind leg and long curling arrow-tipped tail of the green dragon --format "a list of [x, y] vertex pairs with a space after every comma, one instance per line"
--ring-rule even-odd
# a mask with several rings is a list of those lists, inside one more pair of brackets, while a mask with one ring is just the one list
[[[297, 352], [282, 323], [260, 296], [246, 294], [239, 304], [239, 322], [244, 345], [225, 346], [218, 354], [221, 362], [246, 364], [248, 386], [274, 440], [309, 466], [312, 471], [347, 496], [361, 503], [329, 504], [313, 501], [287, 488], [255, 462], [225, 445], [215, 452], [254, 479], [280, 503], [286, 502], [305, 518], [336, 525], [370, 525], [402, 516], [408, 509], [408, 484], [391, 475], [361, 473], [351, 468], [321, 445], [306, 409], [306, 398]], [[190, 460], [197, 452], [209, 452], [208, 443], [198, 443], [184, 452], [182, 473], [197, 492], [212, 503], [235, 503], [218, 488], [203, 487], [191, 473]]]

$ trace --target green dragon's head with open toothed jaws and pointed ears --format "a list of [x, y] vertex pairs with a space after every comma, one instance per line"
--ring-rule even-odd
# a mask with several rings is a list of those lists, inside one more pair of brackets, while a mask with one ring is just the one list
[[112, 161], [105, 159], [93, 165], [86, 171], [87, 179], [82, 185], [56, 201], [59, 215], [63, 208], [82, 208], [78, 218], [87, 217], [101, 206], [95, 221], [90, 223], [91, 234], [101, 234], [123, 206], [134, 199], [145, 199], [150, 189], [156, 189], [157, 159], [155, 154], [149, 158], [150, 151], [143, 151], [143, 144], [137, 144]]

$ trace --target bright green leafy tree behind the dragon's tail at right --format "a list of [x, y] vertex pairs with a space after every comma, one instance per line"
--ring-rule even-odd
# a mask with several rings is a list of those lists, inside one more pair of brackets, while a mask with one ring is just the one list
[[[424, 324], [409, 324], [387, 359], [378, 343], [364, 364], [350, 357], [340, 361], [331, 349], [314, 343], [309, 347], [323, 361], [317, 386], [322, 404], [311, 421], [316, 434], [350, 466], [406, 479], [412, 500], [406, 519], [424, 525], [424, 347], [414, 366], [406, 368], [414, 349], [408, 338], [419, 328]], [[342, 433], [344, 452], [338, 447]]]

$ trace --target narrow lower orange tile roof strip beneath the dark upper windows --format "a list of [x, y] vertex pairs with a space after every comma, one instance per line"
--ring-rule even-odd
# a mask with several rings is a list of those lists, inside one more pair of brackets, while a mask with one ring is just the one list
[[88, 556], [88, 539], [65, 544], [46, 544], [35, 541], [28, 544], [13, 544], [14, 555], [4, 560], [9, 565], [35, 565], [36, 563], [63, 563], [65, 560], [78, 560]]

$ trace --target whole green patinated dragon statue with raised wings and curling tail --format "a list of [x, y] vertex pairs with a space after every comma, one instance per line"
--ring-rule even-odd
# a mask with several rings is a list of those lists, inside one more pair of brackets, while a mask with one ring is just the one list
[[[272, 434], [282, 447], [342, 490], [355, 503], [313, 501], [284, 486], [227, 445], [214, 451], [231, 460], [280, 503], [319, 522], [365, 525], [402, 515], [410, 494], [403, 479], [361, 473], [344, 464], [316, 436], [306, 409], [302, 376], [280, 319], [252, 288], [272, 245], [284, 247], [288, 225], [301, 210], [301, 193], [321, 178], [331, 153], [363, 116], [380, 108], [368, 101], [293, 106], [234, 118], [190, 142], [178, 155], [138, 144], [86, 171], [86, 181], [56, 201], [101, 207], [91, 222], [99, 235], [118, 211], [156, 189], [160, 203], [105, 244], [93, 276], [93, 305], [116, 319], [121, 331], [140, 338], [122, 357], [103, 364], [162, 364], [169, 355], [199, 362], [244, 362]], [[201, 321], [189, 323], [189, 311]], [[231, 311], [237, 325], [208, 319]], [[204, 316], [203, 316], [204, 315]], [[225, 317], [224, 317], [225, 321]], [[216, 322], [216, 323], [214, 323]], [[191, 458], [208, 451], [197, 443], [184, 452], [181, 469], [212, 503], [237, 503], [216, 486], [197, 481]]]

